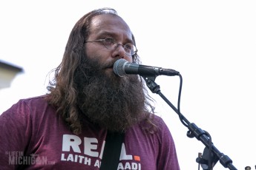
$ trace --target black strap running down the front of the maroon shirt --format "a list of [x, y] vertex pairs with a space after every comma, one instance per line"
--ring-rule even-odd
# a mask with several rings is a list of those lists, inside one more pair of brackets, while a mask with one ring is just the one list
[[123, 140], [123, 133], [108, 132], [105, 140], [105, 148], [102, 156], [100, 170], [117, 169]]

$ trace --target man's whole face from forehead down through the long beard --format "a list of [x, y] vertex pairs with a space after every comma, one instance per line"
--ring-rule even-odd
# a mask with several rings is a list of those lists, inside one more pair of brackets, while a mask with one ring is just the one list
[[[119, 44], [132, 43], [131, 30], [117, 16], [104, 14], [92, 20], [87, 41], [111, 37]], [[78, 105], [92, 123], [123, 132], [145, 119], [145, 94], [137, 75], [119, 77], [113, 65], [119, 58], [132, 62], [122, 46], [108, 50], [102, 42], [85, 43], [85, 61], [75, 75]], [[86, 126], [86, 125], [85, 125]]]

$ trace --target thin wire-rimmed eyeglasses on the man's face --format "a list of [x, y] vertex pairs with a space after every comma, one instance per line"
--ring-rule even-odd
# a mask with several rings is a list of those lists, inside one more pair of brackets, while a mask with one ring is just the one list
[[104, 39], [98, 39], [98, 40], [92, 40], [92, 41], [85, 41], [85, 43], [93, 42], [93, 41], [99, 41], [102, 42], [102, 44], [108, 49], [108, 50], [115, 50], [119, 45], [121, 45], [126, 55], [134, 55], [137, 53], [137, 48], [134, 46], [134, 44], [127, 43], [125, 45], [116, 43], [114, 38], [107, 37]]

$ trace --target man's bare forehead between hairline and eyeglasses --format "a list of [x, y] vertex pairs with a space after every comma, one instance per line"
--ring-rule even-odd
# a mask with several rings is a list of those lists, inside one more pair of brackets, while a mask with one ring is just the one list
[[131, 39], [131, 30], [128, 24], [119, 16], [113, 14], [102, 14], [94, 16], [91, 20], [91, 33], [100, 35], [111, 33], [122, 35]]

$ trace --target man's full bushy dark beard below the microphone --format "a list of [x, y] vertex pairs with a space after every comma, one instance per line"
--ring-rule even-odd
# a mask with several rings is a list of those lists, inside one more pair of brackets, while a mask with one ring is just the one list
[[[95, 59], [83, 62], [75, 76], [82, 113], [102, 128], [124, 132], [145, 119], [145, 94], [137, 75], [119, 77]], [[108, 70], [110, 71], [110, 70]]]

